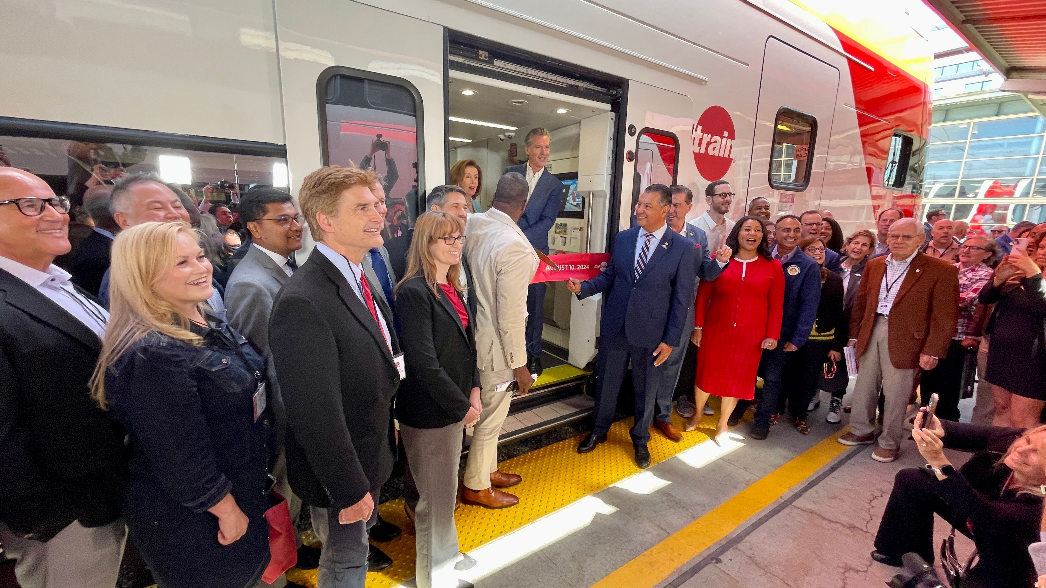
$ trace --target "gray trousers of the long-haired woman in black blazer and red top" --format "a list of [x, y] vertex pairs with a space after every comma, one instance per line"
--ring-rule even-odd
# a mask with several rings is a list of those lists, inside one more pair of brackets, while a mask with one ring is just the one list
[[457, 527], [454, 502], [461, 461], [464, 422], [438, 429], [400, 424], [413, 484], [404, 483], [407, 504], [414, 508], [417, 588], [456, 588]]

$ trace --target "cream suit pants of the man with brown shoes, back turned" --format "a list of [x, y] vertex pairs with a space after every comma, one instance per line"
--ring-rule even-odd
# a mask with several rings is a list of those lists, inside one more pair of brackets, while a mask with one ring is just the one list
[[486, 490], [491, 488], [491, 474], [498, 471], [498, 437], [501, 426], [508, 416], [508, 406], [511, 404], [511, 392], [496, 392], [494, 388], [513, 379], [513, 370], [497, 371], [479, 370], [479, 385], [482, 386], [480, 399], [483, 412], [479, 423], [472, 432], [472, 445], [469, 446], [469, 459], [464, 465], [464, 485], [470, 490]]

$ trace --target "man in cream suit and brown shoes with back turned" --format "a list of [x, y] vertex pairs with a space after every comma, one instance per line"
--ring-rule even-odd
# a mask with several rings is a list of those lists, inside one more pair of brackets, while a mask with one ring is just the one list
[[491, 209], [469, 214], [464, 231], [469, 235], [464, 258], [477, 301], [476, 359], [483, 411], [473, 429], [461, 501], [487, 508], [517, 504], [517, 496], [497, 489], [523, 480], [518, 474], [498, 471], [498, 436], [513, 392], [496, 388], [515, 380], [519, 393], [525, 394], [533, 383], [526, 366], [526, 296], [538, 271], [538, 254], [517, 225], [526, 199], [523, 176], [505, 174], [498, 181]]

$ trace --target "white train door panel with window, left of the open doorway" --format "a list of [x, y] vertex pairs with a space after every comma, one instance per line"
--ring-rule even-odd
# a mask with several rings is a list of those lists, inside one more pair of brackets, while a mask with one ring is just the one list
[[373, 168], [394, 239], [425, 188], [444, 183], [444, 27], [358, 2], [308, 4], [277, 0], [276, 39], [251, 40], [279, 52], [291, 185], [321, 165]]

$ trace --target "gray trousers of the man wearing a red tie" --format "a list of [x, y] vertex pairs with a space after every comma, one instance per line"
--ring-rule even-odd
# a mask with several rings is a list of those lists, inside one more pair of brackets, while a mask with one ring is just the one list
[[313, 532], [323, 543], [320, 567], [317, 572], [318, 588], [364, 588], [367, 584], [367, 551], [370, 542], [367, 530], [378, 522], [378, 497], [374, 510], [366, 521], [343, 525], [338, 522], [338, 511], [310, 506]]

